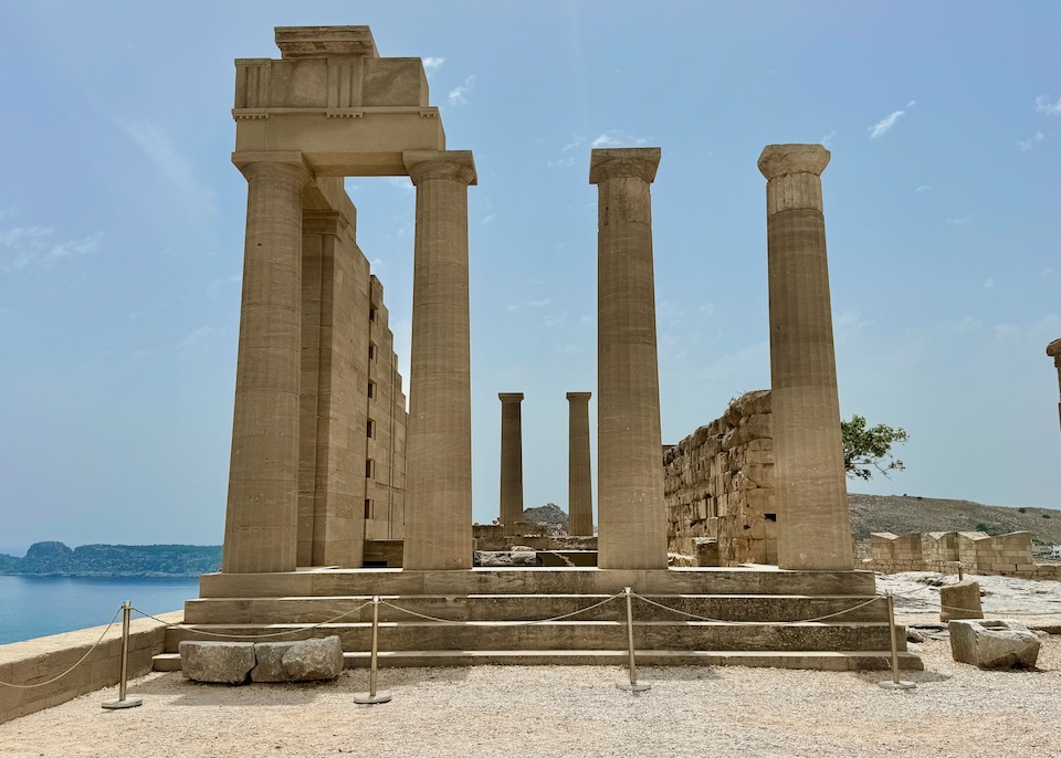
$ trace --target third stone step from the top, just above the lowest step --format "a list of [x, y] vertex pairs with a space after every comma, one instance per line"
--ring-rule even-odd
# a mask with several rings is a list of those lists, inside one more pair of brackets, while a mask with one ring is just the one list
[[[290, 629], [291, 633], [276, 636]], [[368, 650], [371, 624], [328, 623], [312, 629], [296, 624], [199, 624], [174, 627], [166, 633], [166, 651], [181, 640], [223, 640], [208, 632], [246, 641], [300, 640], [337, 634], [343, 650]], [[728, 623], [706, 621], [637, 621], [634, 644], [653, 650], [725, 651], [858, 651], [889, 646], [886, 622], [850, 623]], [[905, 649], [905, 634], [902, 649]], [[624, 650], [627, 627], [620, 621], [556, 621], [527, 624], [507, 621], [471, 621], [454, 624], [412, 621], [379, 624], [379, 648], [403, 650]]]

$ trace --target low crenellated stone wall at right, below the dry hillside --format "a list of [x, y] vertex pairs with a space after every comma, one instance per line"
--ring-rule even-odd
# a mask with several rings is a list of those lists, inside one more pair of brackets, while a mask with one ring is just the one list
[[889, 573], [954, 573], [960, 565], [973, 573], [1061, 580], [1061, 564], [1036, 564], [1029, 531], [997, 537], [984, 531], [929, 531], [902, 537], [881, 531], [870, 535], [870, 559], [864, 565]]

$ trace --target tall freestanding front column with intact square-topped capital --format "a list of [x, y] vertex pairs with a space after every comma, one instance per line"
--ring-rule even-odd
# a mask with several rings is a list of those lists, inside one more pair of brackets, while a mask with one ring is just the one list
[[652, 202], [660, 148], [598, 149], [598, 566], [666, 568]]

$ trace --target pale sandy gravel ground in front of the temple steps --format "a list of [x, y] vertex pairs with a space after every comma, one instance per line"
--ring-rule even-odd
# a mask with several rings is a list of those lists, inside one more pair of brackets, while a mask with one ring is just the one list
[[[921, 576], [880, 582], [910, 592], [900, 620], [938, 620], [923, 608], [933, 590]], [[992, 592], [995, 578], [985, 579]], [[984, 598], [989, 615], [1006, 596], [1013, 610], [1061, 622], [1051, 612], [1061, 583], [1010, 591], [1012, 581]], [[1038, 671], [988, 672], [952, 661], [935, 632], [910, 645], [926, 671], [903, 673], [917, 683], [907, 692], [878, 686], [885, 672], [642, 667], [652, 688], [634, 694], [616, 687], [618, 667], [385, 668], [393, 701], [365, 706], [351, 699], [367, 688], [360, 670], [334, 683], [244, 687], [150, 674], [130, 683], [138, 708], [102, 709], [111, 688], [0, 725], [0, 756], [1059, 758], [1061, 636], [1040, 636]]]

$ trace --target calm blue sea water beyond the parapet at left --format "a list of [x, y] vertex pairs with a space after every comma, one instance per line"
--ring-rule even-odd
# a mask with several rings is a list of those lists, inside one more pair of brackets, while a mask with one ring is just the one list
[[[199, 596], [199, 578], [118, 579], [0, 576], [0, 644], [111, 622], [126, 600], [166, 613]], [[140, 618], [134, 613], [133, 619]]]

